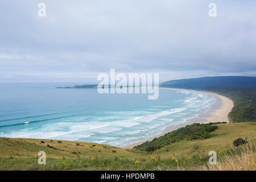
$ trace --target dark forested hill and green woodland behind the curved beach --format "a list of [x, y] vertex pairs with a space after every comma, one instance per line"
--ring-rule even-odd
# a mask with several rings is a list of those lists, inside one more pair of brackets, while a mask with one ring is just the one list
[[171, 80], [163, 87], [206, 90], [229, 97], [234, 107], [229, 113], [232, 122], [256, 121], [256, 77], [220, 76]]

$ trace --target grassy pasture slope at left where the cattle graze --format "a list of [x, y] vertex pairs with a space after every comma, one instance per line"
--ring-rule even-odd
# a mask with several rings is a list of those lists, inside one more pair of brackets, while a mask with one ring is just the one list
[[[40, 143], [41, 141], [44, 141], [45, 143], [42, 144]], [[57, 141], [61, 141], [62, 143], [57, 143]], [[80, 146], [77, 146], [76, 143], [79, 143]], [[57, 148], [57, 150], [46, 147], [47, 144]], [[96, 146], [91, 148], [90, 146], [93, 146], [94, 144]], [[106, 148], [103, 146], [106, 146]], [[38, 151], [45, 151], [47, 157], [53, 159], [116, 156], [112, 150], [117, 151], [117, 154], [122, 153], [122, 155], [135, 156], [135, 154], [123, 150], [123, 148], [98, 143], [73, 142], [67, 140], [52, 140], [51, 142], [50, 139], [0, 138], [1, 158], [27, 158], [31, 156], [36, 158]], [[76, 154], [72, 154], [73, 152], [76, 152]]]

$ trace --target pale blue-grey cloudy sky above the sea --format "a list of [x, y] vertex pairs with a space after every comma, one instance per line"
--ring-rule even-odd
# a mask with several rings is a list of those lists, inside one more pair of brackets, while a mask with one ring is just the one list
[[0, 82], [92, 84], [111, 68], [159, 73], [160, 82], [256, 76], [255, 8], [255, 0], [1, 0]]

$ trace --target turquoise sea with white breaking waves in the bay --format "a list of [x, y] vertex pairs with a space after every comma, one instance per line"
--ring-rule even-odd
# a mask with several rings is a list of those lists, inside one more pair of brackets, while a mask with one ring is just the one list
[[[76, 140], [126, 146], [206, 113], [217, 98], [159, 89], [147, 94], [98, 94], [56, 89], [67, 84], [0, 84], [0, 137]], [[68, 84], [72, 85], [72, 84]]]

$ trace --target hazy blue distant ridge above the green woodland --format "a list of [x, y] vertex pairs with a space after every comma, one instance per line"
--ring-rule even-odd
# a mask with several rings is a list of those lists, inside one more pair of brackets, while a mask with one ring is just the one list
[[256, 77], [217, 76], [171, 80], [160, 84], [172, 88], [242, 88], [256, 87]]

